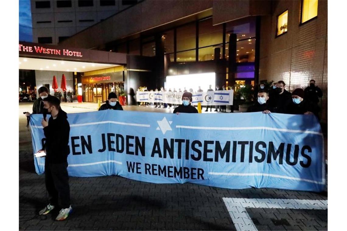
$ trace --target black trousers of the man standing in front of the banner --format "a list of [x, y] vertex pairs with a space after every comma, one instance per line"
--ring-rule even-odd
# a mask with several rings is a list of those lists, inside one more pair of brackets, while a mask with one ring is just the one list
[[52, 164], [49, 161], [44, 165], [44, 178], [51, 205], [60, 205], [61, 208], [70, 207], [70, 186], [67, 172], [68, 163]]

